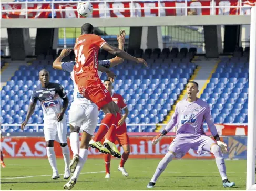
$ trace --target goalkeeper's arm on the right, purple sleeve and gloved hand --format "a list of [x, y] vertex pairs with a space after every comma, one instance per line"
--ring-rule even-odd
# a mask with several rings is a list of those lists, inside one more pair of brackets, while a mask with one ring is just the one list
[[223, 143], [222, 141], [220, 141], [220, 136], [217, 132], [216, 126], [214, 125], [209, 105], [207, 105], [206, 114], [204, 114], [204, 119], [206, 120], [206, 123], [211, 131], [212, 136], [217, 141], [217, 144], [221, 147], [222, 153], [223, 154], [228, 153], [228, 148], [226, 143]]

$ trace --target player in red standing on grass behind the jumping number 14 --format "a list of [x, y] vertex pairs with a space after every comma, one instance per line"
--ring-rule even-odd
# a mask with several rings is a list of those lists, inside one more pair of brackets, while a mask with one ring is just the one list
[[[112, 100], [118, 105], [120, 114], [122, 113], [122, 110], [125, 110], [125, 114], [122, 115], [122, 117], [120, 115], [120, 117], [118, 119], [118, 124], [117, 124], [116, 140], [118, 141], [119, 145], [122, 146], [122, 148], [124, 149], [124, 153], [122, 154], [121, 162], [117, 169], [118, 169], [118, 171], [122, 172], [122, 175], [128, 176], [128, 173], [126, 172], [126, 170], [124, 168], [124, 164], [127, 161], [129, 154], [130, 154], [130, 141], [129, 141], [129, 137], [128, 137], [128, 134], [126, 131], [126, 123], [125, 123], [125, 119], [127, 118], [129, 111], [128, 111], [127, 105], [124, 102], [124, 98], [122, 97], [122, 95], [119, 95], [117, 93], [112, 93], [113, 86], [112, 86], [111, 81], [105, 80], [104, 86], [111, 94]], [[106, 134], [105, 138], [108, 139], [108, 136], [110, 136], [109, 133]], [[105, 178], [110, 178], [111, 155], [106, 154], [104, 160], [105, 160], [105, 168], [106, 168]]]

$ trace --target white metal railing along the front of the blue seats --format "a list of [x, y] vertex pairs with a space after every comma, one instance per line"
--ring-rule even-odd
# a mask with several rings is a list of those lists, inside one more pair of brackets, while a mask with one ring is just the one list
[[[155, 124], [155, 123], [150, 123], [150, 124], [144, 124], [144, 123], [138, 123], [138, 124], [126, 124], [126, 126], [138, 126], [139, 127], [139, 132], [142, 132], [142, 127], [143, 126], [153, 126], [156, 128], [157, 126], [166, 126], [167, 124]], [[21, 124], [1, 124], [1, 126], [21, 126]], [[44, 124], [27, 124], [25, 126], [25, 131], [28, 129], [29, 126], [34, 126], [36, 127], [36, 132], [39, 132], [39, 126], [44, 126]], [[67, 124], [69, 126], [69, 124]], [[97, 126], [100, 126], [100, 124], [97, 124]], [[5, 128], [1, 128], [2, 132], [5, 132]], [[173, 131], [175, 132], [175, 128], [173, 128]]]

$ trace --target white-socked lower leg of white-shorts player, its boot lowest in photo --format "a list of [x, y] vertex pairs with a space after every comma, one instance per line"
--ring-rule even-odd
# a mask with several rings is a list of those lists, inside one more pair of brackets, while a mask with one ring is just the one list
[[79, 150], [79, 162], [76, 166], [75, 172], [74, 172], [73, 176], [71, 177], [70, 181], [68, 181], [68, 183], [64, 185], [63, 188], [65, 190], [72, 189], [76, 184], [76, 181], [81, 172], [81, 169], [83, 168], [83, 166], [87, 160], [89, 141], [91, 140], [91, 137], [92, 137], [92, 135], [83, 131], [83, 134], [81, 137], [80, 150]]

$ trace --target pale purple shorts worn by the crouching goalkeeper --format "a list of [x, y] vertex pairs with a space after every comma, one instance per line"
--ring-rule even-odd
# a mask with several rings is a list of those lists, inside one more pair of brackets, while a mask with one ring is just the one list
[[176, 135], [171, 142], [169, 152], [173, 152], [175, 158], [182, 158], [191, 148], [197, 150], [197, 154], [201, 155], [211, 152], [211, 146], [214, 143], [216, 142], [206, 135]]

